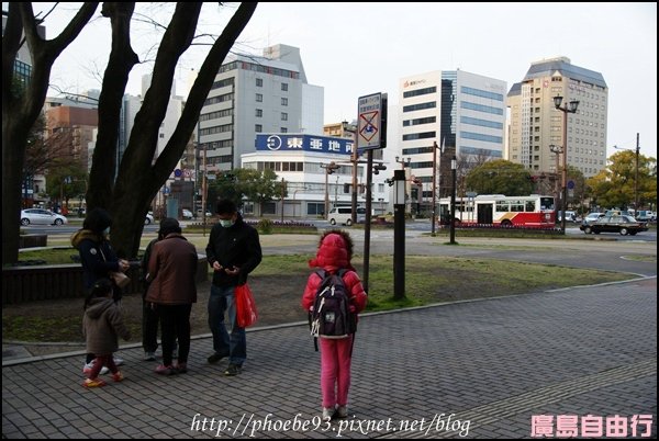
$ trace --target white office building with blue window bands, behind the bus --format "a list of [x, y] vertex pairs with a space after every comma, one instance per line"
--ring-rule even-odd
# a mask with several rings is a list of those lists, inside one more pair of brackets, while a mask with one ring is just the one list
[[[436, 196], [447, 195], [450, 157], [456, 154], [461, 172], [490, 159], [502, 158], [505, 139], [506, 82], [463, 70], [436, 70], [400, 80], [400, 161], [410, 160], [412, 211], [432, 207], [434, 144]], [[417, 181], [417, 182], [418, 182]], [[421, 193], [421, 194], [420, 194]]]

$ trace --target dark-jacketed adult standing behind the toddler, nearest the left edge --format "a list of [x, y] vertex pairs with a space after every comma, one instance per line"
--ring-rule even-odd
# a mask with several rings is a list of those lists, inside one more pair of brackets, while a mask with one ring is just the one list
[[[119, 259], [108, 240], [112, 217], [103, 208], [93, 208], [82, 222], [82, 228], [71, 236], [71, 245], [78, 250], [80, 262], [82, 263], [82, 281], [85, 290], [93, 286], [99, 279], [107, 279], [110, 271], [127, 271], [130, 263], [127, 260]], [[112, 298], [114, 302], [121, 302], [121, 289], [112, 283]], [[82, 373], [89, 374], [93, 368], [94, 354], [88, 353], [82, 366]], [[115, 358], [114, 363], [119, 366], [123, 360]], [[101, 374], [108, 370], [101, 370]]]

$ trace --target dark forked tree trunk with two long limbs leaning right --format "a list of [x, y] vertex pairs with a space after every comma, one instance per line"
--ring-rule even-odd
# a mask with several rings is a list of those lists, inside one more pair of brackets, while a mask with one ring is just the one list
[[171, 90], [177, 61], [192, 42], [201, 10], [201, 3], [177, 5], [158, 49], [152, 84], [144, 97], [142, 109], [135, 116], [135, 125], [114, 185], [111, 210], [114, 216], [112, 245], [120, 256], [137, 256], [144, 217], [150, 202], [181, 158], [220, 66], [249, 22], [256, 4], [241, 3], [222, 35], [213, 44], [199, 70], [171, 138], [152, 166], [157, 148], [158, 129], [169, 103], [169, 94], [163, 91]]

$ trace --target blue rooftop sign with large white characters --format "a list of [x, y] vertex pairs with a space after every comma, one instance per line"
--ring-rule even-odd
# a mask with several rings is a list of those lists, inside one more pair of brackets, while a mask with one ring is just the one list
[[316, 151], [320, 154], [353, 155], [351, 139], [314, 135], [256, 135], [256, 149], [264, 151]]

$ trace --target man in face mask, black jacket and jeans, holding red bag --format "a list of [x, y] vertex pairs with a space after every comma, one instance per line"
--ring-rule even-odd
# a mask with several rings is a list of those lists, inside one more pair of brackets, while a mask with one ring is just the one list
[[[246, 224], [233, 201], [217, 202], [220, 222], [211, 229], [206, 258], [213, 268], [213, 282], [209, 297], [209, 327], [213, 333], [214, 353], [209, 363], [228, 357], [224, 375], [241, 373], [247, 358], [245, 328], [236, 323], [234, 293], [237, 285], [247, 282], [249, 274], [261, 261], [261, 248], [256, 228]], [[224, 314], [228, 313], [228, 329]]]

